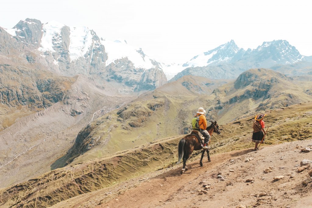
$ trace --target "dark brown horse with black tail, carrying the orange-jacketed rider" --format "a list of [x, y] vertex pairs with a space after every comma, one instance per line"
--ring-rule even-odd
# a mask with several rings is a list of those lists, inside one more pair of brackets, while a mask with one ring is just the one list
[[[206, 128], [207, 132], [212, 136], [213, 132], [216, 132], [217, 134], [220, 134], [219, 125], [217, 124], [217, 121], [212, 122], [211, 125]], [[186, 160], [190, 157], [192, 152], [194, 150], [201, 150], [202, 145], [199, 139], [195, 134], [188, 134], [185, 137], [183, 137], [178, 145], [178, 162], [176, 164], [179, 164], [181, 162], [181, 159], [183, 158], [183, 169], [181, 170], [181, 174], [184, 173], [184, 171], [188, 170], [188, 167], [186, 167]], [[209, 156], [209, 150], [203, 149], [202, 151], [202, 157], [200, 159], [200, 166], [202, 166], [202, 158], [204, 157], [205, 151], [207, 151], [208, 154], [208, 161], [210, 162], [210, 156]]]

